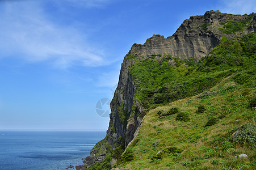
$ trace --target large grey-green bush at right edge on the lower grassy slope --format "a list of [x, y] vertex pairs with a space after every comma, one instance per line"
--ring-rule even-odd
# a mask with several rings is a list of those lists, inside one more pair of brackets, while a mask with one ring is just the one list
[[232, 142], [256, 143], [256, 125], [246, 124], [237, 129], [237, 133], [230, 139]]

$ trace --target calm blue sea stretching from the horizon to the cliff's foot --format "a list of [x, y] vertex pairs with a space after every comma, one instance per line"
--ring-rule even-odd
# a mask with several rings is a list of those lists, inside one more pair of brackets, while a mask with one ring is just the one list
[[82, 158], [105, 136], [106, 131], [0, 131], [0, 169], [81, 165]]

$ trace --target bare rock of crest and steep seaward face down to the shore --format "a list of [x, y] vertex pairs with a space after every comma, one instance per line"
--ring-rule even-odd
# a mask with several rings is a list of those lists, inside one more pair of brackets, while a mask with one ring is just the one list
[[[249, 24], [241, 30], [228, 33], [225, 27], [227, 21], [241, 22], [249, 20]], [[121, 65], [118, 86], [111, 101], [110, 126], [104, 141], [99, 142], [87, 158], [89, 165], [103, 160], [106, 155], [124, 143], [126, 147], [132, 141], [135, 131], [141, 124], [144, 108], [134, 99], [136, 87], [129, 67], [136, 62], [129, 56], [150, 56], [153, 54], [171, 55], [182, 59], [192, 57], [199, 61], [218, 45], [220, 37], [229, 38], [242, 36], [256, 31], [255, 15], [231, 15], [219, 11], [207, 11], [202, 16], [191, 16], [184, 20], [173, 36], [166, 39], [160, 35], [153, 35], [145, 44], [133, 44]], [[111, 146], [107, 150], [107, 146]]]

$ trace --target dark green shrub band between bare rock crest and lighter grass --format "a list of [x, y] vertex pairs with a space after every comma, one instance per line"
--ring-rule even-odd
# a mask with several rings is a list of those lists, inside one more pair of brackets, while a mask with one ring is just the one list
[[[255, 35], [246, 35], [236, 41], [222, 37], [220, 44], [195, 63], [192, 58], [147, 56], [129, 69], [135, 79], [135, 100], [145, 109], [165, 105], [171, 101], [198, 95], [230, 75], [234, 82], [254, 83]], [[173, 63], [171, 65], [170, 63]], [[243, 72], [241, 72], [244, 70]], [[239, 74], [238, 74], [239, 73]]]

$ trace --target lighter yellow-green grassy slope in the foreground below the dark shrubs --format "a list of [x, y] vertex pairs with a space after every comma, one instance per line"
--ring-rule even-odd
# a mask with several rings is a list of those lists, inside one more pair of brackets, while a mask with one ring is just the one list
[[[146, 114], [139, 134], [129, 146], [135, 157], [117, 167], [223, 169], [229, 168], [234, 156], [246, 154], [248, 158], [237, 159], [232, 168], [239, 169], [245, 165], [242, 169], [253, 169], [256, 162], [255, 141], [237, 142], [231, 138], [232, 133], [244, 127], [242, 125], [247, 122], [251, 124], [247, 130], [251, 129], [250, 133], [255, 134], [256, 114], [246, 105], [253, 98], [255, 89], [249, 89], [227, 79], [211, 88], [210, 91], [215, 92], [215, 95], [207, 99], [187, 97], [152, 109]], [[198, 114], [196, 110], [202, 103], [207, 109]], [[163, 118], [157, 116], [158, 111], [168, 112], [171, 108], [179, 108], [181, 112], [189, 113], [190, 121], [177, 121], [178, 113]], [[216, 124], [205, 126], [213, 117], [223, 114], [225, 117], [216, 118]], [[250, 133], [246, 131], [246, 134]], [[168, 148], [177, 148], [181, 152], [157, 154], [158, 151]]]

